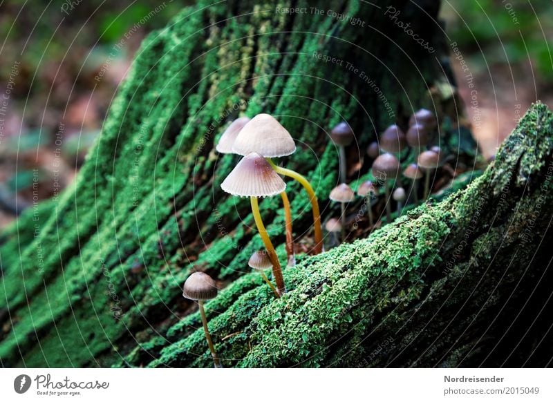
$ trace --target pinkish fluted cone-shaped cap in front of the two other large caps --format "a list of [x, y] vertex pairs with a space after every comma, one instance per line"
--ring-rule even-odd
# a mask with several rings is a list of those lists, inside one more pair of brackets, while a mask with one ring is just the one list
[[269, 162], [254, 152], [243, 157], [221, 183], [223, 191], [239, 197], [269, 197], [285, 188], [285, 182]]

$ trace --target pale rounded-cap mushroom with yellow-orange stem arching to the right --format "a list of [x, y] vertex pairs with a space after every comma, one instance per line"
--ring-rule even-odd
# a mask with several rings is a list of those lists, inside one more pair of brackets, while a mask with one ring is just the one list
[[290, 155], [296, 151], [294, 139], [286, 129], [277, 122], [277, 119], [261, 113], [256, 115], [236, 137], [232, 150], [239, 155], [247, 155], [250, 152], [259, 153], [266, 158], [274, 171], [281, 175], [297, 180], [306, 190], [313, 210], [313, 226], [315, 227], [315, 253], [323, 251], [323, 231], [321, 229], [321, 213], [317, 195], [306, 178], [291, 169], [277, 166], [271, 160], [272, 157]]

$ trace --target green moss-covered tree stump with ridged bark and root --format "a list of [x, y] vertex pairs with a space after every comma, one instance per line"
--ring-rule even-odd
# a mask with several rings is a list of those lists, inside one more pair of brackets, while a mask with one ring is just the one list
[[[271, 1], [200, 1], [144, 41], [73, 188], [29, 209], [1, 236], [1, 365], [208, 366], [196, 305], [180, 291], [192, 269], [225, 287], [207, 314], [228, 366], [478, 363], [505, 325], [500, 314], [516, 305], [482, 332], [496, 317], [487, 311], [506, 305], [501, 298], [519, 300], [508, 292], [518, 297], [523, 274], [528, 283], [518, 286], [532, 289], [538, 274], [530, 267], [543, 262], [543, 253], [514, 255], [512, 247], [551, 157], [550, 116], [536, 108], [525, 123], [534, 137], [521, 136], [498, 158], [500, 170], [466, 192], [355, 245], [299, 256], [299, 267], [285, 269], [290, 293], [272, 300], [261, 278], [246, 274], [247, 258], [262, 248], [249, 203], [219, 186], [238, 158], [218, 156], [214, 142], [238, 113], [271, 113], [288, 128], [299, 150], [286, 164], [315, 183], [324, 216], [332, 213], [326, 199], [338, 168], [326, 131], [343, 119], [357, 137], [348, 158], [360, 167], [350, 180], [368, 171], [370, 162], [357, 161], [375, 133], [406, 124], [423, 106], [446, 123], [440, 145], [456, 155], [474, 151], [456, 124], [455, 98], [431, 96], [449, 75], [433, 21], [438, 3], [328, 1], [322, 14], [304, 1], [292, 6], [302, 11]], [[433, 52], [406, 35], [387, 6]], [[543, 124], [532, 126], [538, 116]], [[532, 138], [547, 146], [532, 163], [515, 160], [529, 155]], [[524, 186], [528, 177], [532, 187]], [[507, 200], [496, 208], [501, 189]], [[308, 198], [296, 184], [288, 190], [294, 234], [308, 246]], [[279, 200], [261, 207], [282, 255]], [[544, 233], [546, 216], [528, 236]], [[489, 362], [498, 361], [487, 351]]]

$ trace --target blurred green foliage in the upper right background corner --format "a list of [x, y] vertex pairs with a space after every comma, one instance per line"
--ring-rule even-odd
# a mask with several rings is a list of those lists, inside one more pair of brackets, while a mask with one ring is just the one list
[[532, 61], [541, 78], [553, 83], [553, 3], [551, 0], [453, 0], [442, 3], [451, 41], [485, 64]]

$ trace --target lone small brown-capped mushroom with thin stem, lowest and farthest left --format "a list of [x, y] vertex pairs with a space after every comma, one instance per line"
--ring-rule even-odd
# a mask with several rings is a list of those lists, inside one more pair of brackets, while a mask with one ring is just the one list
[[202, 316], [203, 332], [205, 334], [205, 339], [207, 340], [207, 346], [212, 352], [213, 363], [215, 368], [223, 367], [217, 352], [215, 352], [215, 347], [213, 345], [212, 336], [209, 334], [209, 329], [207, 328], [207, 318], [205, 316], [205, 310], [203, 309], [203, 302], [205, 300], [210, 300], [216, 298], [217, 296], [217, 287], [215, 281], [211, 276], [205, 274], [204, 272], [194, 272], [185, 282], [185, 286], [182, 287], [182, 296], [190, 300], [196, 300], [198, 306], [200, 307], [200, 316]]

